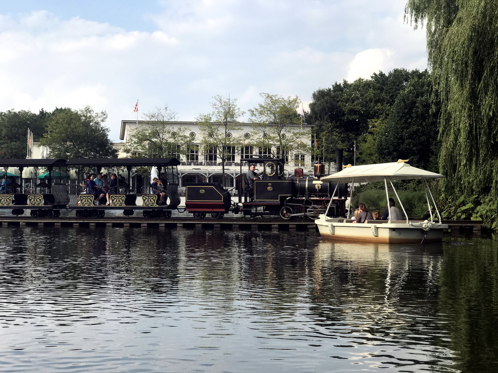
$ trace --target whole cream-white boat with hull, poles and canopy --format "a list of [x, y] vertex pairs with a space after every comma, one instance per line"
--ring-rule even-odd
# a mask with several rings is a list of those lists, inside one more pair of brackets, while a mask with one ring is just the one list
[[[322, 181], [333, 181], [334, 183], [355, 183], [384, 182], [387, 201], [389, 200], [388, 185], [394, 191], [397, 204], [401, 207], [405, 220], [391, 220], [389, 210], [388, 220], [367, 220], [365, 223], [353, 223], [347, 218], [330, 218], [321, 214], [315, 223], [323, 238], [334, 241], [349, 242], [378, 242], [389, 244], [420, 244], [429, 242], [440, 242], [443, 239], [443, 232], [448, 229], [447, 224], [441, 223], [441, 215], [437, 209], [434, 197], [427, 184], [427, 179], [444, 178], [433, 172], [412, 167], [399, 160], [398, 162], [381, 163], [375, 165], [346, 166], [342, 171], [323, 177]], [[410, 220], [399, 199], [399, 196], [392, 182], [394, 180], [422, 179], [425, 196], [427, 200], [430, 218], [427, 220]], [[337, 187], [336, 187], [337, 189]], [[334, 190], [335, 194], [336, 190]], [[353, 190], [351, 191], [353, 193]], [[333, 195], [334, 197], [334, 195]], [[331, 199], [332, 202], [332, 199]], [[389, 203], [389, 202], [387, 202]], [[329, 204], [330, 207], [330, 204]], [[389, 206], [386, 206], [389, 208]], [[435, 209], [435, 214], [432, 208]], [[436, 216], [437, 215], [437, 218]]]

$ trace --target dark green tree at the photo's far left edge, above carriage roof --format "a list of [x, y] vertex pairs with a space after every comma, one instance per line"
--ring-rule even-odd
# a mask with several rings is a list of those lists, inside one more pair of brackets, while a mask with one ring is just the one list
[[38, 114], [24, 110], [0, 112], [0, 158], [26, 158], [28, 128], [33, 132], [33, 141], [39, 141], [49, 115], [43, 109]]

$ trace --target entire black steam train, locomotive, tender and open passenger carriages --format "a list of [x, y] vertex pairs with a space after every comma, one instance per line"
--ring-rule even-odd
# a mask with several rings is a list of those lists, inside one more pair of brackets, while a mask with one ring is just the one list
[[[262, 166], [260, 179], [254, 181], [253, 189], [248, 188], [246, 174], [242, 164]], [[26, 210], [33, 217], [57, 217], [61, 210], [75, 211], [77, 217], [99, 218], [106, 211], [123, 210], [125, 216], [141, 212], [145, 218], [168, 218], [172, 211], [192, 213], [194, 218], [204, 218], [211, 214], [220, 219], [225, 214], [242, 214], [244, 216], [276, 216], [290, 219], [295, 216], [315, 219], [323, 213], [331, 200], [332, 191], [337, 187], [338, 198], [332, 200], [328, 214], [344, 216], [347, 186], [323, 183], [323, 166], [315, 166], [315, 175], [296, 173], [293, 177], [284, 177], [282, 159], [253, 157], [241, 160], [241, 172], [237, 182], [238, 201], [233, 201], [231, 190], [217, 183], [186, 184], [185, 208], [178, 208], [179, 176], [176, 158], [131, 158], [131, 159], [1, 159], [4, 182], [0, 187], [0, 209], [10, 209], [14, 215], [22, 215]], [[21, 175], [19, 182], [7, 183], [7, 170], [17, 168]], [[23, 170], [29, 168], [32, 175], [22, 178]], [[153, 168], [158, 174], [164, 173], [168, 203], [159, 204], [157, 192], [151, 189], [149, 178]], [[114, 190], [109, 191], [110, 205], [96, 204], [96, 194], [83, 184], [70, 184], [68, 169], [78, 174], [100, 173], [103, 169], [120, 172], [126, 171], [128, 180], [118, 181]], [[41, 182], [37, 182], [44, 172]], [[131, 174], [135, 172], [135, 187], [131, 187]], [[0, 176], [2, 174], [0, 173]], [[140, 179], [140, 180], [137, 180]], [[25, 184], [25, 182], [31, 182]], [[141, 183], [137, 183], [140, 181]], [[138, 187], [137, 185], [142, 185]], [[23, 187], [29, 185], [29, 187]]]

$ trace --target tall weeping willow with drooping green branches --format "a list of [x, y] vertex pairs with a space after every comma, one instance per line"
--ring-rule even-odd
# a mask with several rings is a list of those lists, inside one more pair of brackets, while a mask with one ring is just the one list
[[[441, 100], [440, 171], [453, 196], [498, 197], [498, 2], [408, 0], [405, 15], [427, 33]], [[496, 202], [495, 202], [496, 203]]]

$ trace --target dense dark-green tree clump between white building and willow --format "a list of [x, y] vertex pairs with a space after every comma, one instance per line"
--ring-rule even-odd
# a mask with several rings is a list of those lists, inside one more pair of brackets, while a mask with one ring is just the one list
[[[403, 120], [405, 127], [408, 127], [421, 117], [430, 116], [431, 106], [424, 106], [425, 102], [419, 97], [428, 95], [423, 87], [420, 88], [415, 83], [405, 93], [406, 102], [399, 100], [396, 103], [401, 92], [410, 87], [409, 82], [421, 81], [426, 76], [427, 72], [418, 70], [394, 69], [387, 75], [382, 72], [373, 74], [370, 80], [358, 79], [353, 83], [336, 82], [332, 88], [314, 92], [308, 122], [315, 126], [315, 135], [319, 139], [317, 145], [320, 148], [326, 147], [326, 150], [319, 149], [317, 152], [324, 155], [323, 161], [334, 160], [335, 150], [344, 149], [344, 162], [353, 164], [355, 141], [360, 148], [359, 154], [356, 155], [357, 164], [399, 159], [396, 155], [388, 153], [391, 146], [399, 152], [408, 154], [406, 158], [411, 158], [413, 153], [424, 148], [426, 144], [423, 141], [420, 141], [423, 144], [418, 144], [419, 136], [411, 136], [407, 141], [406, 134], [393, 123]], [[408, 105], [415, 103], [418, 103], [417, 109], [409, 112]], [[397, 111], [398, 115], [394, 116]], [[417, 129], [419, 127], [424, 125], [417, 126]], [[426, 137], [437, 138], [434, 131], [426, 132]], [[384, 139], [386, 133], [389, 135], [388, 139]], [[380, 144], [378, 144], [379, 139]], [[379, 148], [385, 150], [384, 154], [378, 154]]]

